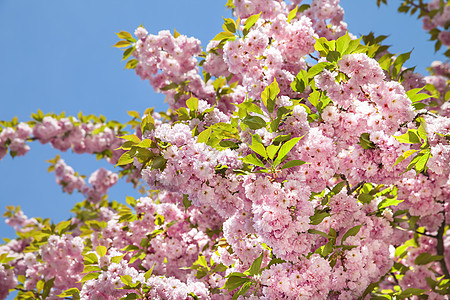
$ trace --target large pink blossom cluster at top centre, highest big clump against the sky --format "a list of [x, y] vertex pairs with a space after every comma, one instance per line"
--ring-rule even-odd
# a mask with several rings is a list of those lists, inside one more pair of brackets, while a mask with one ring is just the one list
[[314, 51], [311, 21], [300, 17], [289, 23], [284, 14], [268, 21], [259, 19], [245, 38], [227, 41], [223, 60], [231, 73], [241, 76], [250, 97], [259, 97], [274, 78], [283, 95], [294, 96], [290, 83], [300, 70], [299, 65], [305, 67], [302, 57]]

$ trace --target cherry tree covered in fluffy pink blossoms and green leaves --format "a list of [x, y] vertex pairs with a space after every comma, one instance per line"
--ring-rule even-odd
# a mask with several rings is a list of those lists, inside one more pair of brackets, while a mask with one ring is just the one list
[[[49, 161], [85, 200], [57, 224], [7, 208], [0, 298], [448, 299], [450, 67], [414, 73], [409, 53], [349, 33], [338, 0], [300, 2], [229, 0], [235, 18], [204, 50], [176, 31], [120, 32], [126, 68], [166, 112], [2, 122], [0, 158], [37, 140], [116, 172], [86, 181]], [[440, 50], [449, 8], [399, 10]], [[109, 201], [119, 177], [142, 197]]]

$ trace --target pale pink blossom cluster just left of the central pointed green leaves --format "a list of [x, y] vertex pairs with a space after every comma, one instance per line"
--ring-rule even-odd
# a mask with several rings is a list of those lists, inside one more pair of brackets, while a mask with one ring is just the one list
[[[211, 206], [221, 216], [229, 216], [236, 208], [243, 205], [238, 194], [236, 175], [233, 168], [239, 168], [241, 161], [238, 155], [230, 149], [217, 151], [204, 143], [197, 143], [191, 130], [184, 124], [162, 124], [151, 136], [171, 146], [162, 153], [167, 160], [163, 172], [145, 169], [142, 178], [156, 189], [178, 191], [189, 195], [193, 204], [199, 207]], [[226, 180], [220, 174], [215, 174], [215, 167], [228, 167]]]

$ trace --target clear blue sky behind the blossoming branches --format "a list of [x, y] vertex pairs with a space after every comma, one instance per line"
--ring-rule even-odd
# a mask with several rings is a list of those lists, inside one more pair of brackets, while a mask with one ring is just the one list
[[[154, 106], [164, 110], [164, 97], [153, 92], [134, 71], [123, 70], [121, 51], [112, 48], [114, 32], [133, 32], [141, 23], [151, 33], [176, 28], [195, 36], [206, 47], [221, 31], [223, 17], [230, 17], [225, 0], [0, 0], [0, 120], [28, 121], [30, 114], [44, 112], [103, 114], [125, 122], [127, 110], [143, 112]], [[414, 49], [408, 67], [424, 73], [443, 55], [434, 56], [434, 44], [415, 17], [396, 13], [397, 1], [377, 8], [375, 0], [342, 0], [345, 21], [353, 34], [390, 35], [393, 52]], [[49, 145], [32, 143], [25, 157], [0, 161], [0, 211], [20, 205], [29, 217], [70, 217], [69, 210], [83, 200], [80, 194], [66, 195], [47, 173], [47, 159], [58, 151]], [[89, 155], [62, 153], [62, 158], [81, 174], [98, 167], [112, 169]], [[111, 189], [110, 199], [123, 201], [138, 193], [123, 181]], [[0, 220], [0, 237], [14, 232]]]

